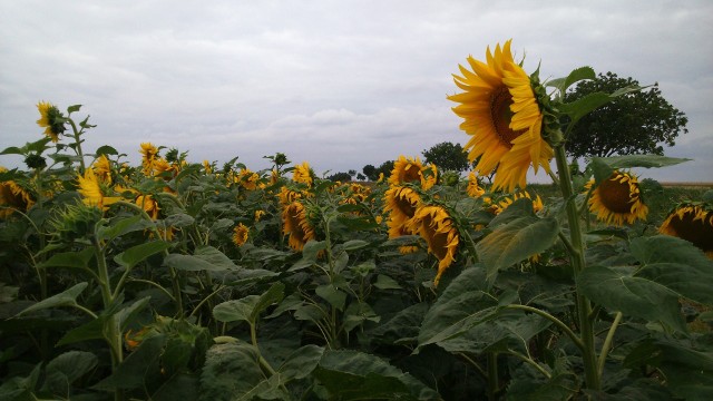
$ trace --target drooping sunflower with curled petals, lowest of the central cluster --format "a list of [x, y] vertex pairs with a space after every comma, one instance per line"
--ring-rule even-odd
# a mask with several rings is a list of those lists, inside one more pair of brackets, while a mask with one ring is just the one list
[[413, 232], [418, 232], [428, 244], [428, 252], [438, 258], [438, 274], [433, 285], [438, 285], [446, 268], [456, 261], [459, 235], [448, 212], [441, 206], [419, 207], [411, 224]]

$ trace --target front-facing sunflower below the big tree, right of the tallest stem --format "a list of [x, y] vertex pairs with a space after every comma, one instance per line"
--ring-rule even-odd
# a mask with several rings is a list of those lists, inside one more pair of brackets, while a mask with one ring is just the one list
[[646, 219], [648, 207], [644, 204], [636, 176], [615, 170], [612, 176], [592, 189], [594, 179], [585, 188], [592, 190], [589, 211], [606, 224], [617, 226], [624, 222], [633, 224], [637, 218]]

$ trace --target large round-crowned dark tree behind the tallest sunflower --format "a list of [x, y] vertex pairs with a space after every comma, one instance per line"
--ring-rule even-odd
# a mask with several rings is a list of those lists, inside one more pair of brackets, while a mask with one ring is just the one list
[[[638, 86], [633, 78], [618, 78], [616, 74], [599, 74], [596, 79], [584, 80], [565, 95], [574, 101], [594, 92], [611, 94], [626, 86]], [[675, 145], [678, 134], [686, 134], [688, 119], [670, 105], [653, 87], [617, 97], [583, 117], [567, 137], [567, 151], [578, 157], [607, 157], [612, 155], [663, 155], [662, 144]]]

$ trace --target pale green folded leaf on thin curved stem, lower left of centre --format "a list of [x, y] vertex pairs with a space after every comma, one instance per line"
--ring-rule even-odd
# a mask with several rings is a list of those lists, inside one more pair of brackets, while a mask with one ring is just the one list
[[244, 321], [254, 325], [257, 316], [270, 305], [279, 303], [284, 297], [285, 285], [274, 283], [262, 295], [247, 295], [240, 300], [226, 301], [215, 305], [213, 316], [221, 322]]

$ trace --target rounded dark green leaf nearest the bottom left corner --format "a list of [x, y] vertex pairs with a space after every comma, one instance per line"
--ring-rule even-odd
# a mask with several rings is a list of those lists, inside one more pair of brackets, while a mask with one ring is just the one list
[[45, 370], [42, 391], [69, 394], [69, 385], [97, 365], [99, 359], [91, 352], [69, 351], [51, 360]]

